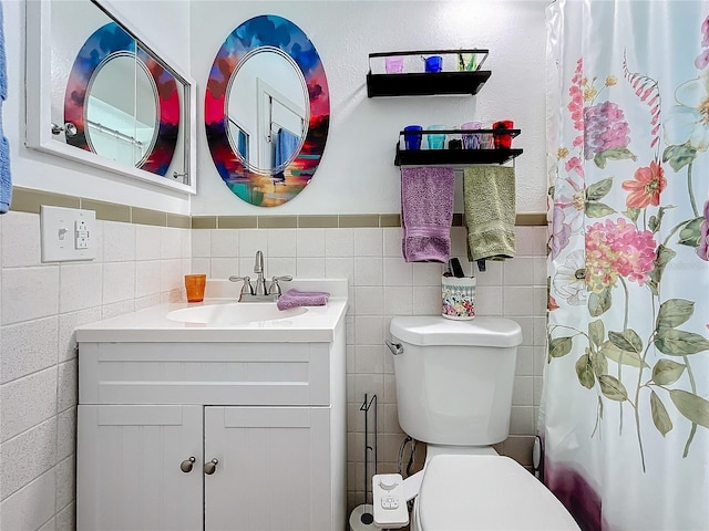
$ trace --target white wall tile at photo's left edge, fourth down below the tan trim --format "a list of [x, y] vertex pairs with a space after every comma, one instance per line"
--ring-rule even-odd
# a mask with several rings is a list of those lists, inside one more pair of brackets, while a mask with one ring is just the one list
[[0, 385], [0, 441], [56, 414], [56, 367]]

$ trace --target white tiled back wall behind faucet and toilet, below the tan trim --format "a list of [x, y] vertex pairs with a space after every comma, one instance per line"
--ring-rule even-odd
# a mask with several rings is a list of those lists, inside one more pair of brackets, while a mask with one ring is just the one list
[[[229, 221], [230, 226], [238, 225]], [[354, 225], [354, 220], [350, 221]], [[379, 225], [389, 225], [391, 220], [386, 221]], [[193, 218], [193, 227], [216, 225]], [[223, 225], [226, 223], [219, 221], [218, 226]], [[300, 226], [300, 219], [294, 217], [284, 225]], [[349, 280], [348, 510], [351, 510], [362, 502], [363, 496], [364, 417], [359, 409], [366, 393], [378, 397], [380, 471], [397, 469], [404, 438], [397, 420], [392, 356], [383, 344], [389, 322], [393, 315], [440, 312], [441, 264], [405, 263], [401, 258], [399, 227], [338, 225], [338, 228], [196, 229], [192, 250], [194, 271], [213, 278], [251, 274], [254, 254], [260, 249], [268, 275]], [[512, 435], [499, 445], [499, 450], [530, 466], [545, 357], [546, 228], [517, 227], [516, 231], [517, 257], [504, 263], [489, 262], [485, 273], [476, 273], [476, 308], [479, 314], [504, 315], [522, 325], [524, 342], [515, 376]], [[453, 227], [452, 243], [454, 256], [466, 256], [462, 227]]]

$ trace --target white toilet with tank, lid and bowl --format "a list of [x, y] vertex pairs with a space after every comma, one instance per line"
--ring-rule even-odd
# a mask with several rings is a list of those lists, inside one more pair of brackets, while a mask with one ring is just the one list
[[492, 448], [510, 433], [520, 325], [398, 316], [390, 332], [399, 424], [427, 442], [423, 470], [403, 481], [418, 489], [411, 530], [578, 530], [541, 481]]

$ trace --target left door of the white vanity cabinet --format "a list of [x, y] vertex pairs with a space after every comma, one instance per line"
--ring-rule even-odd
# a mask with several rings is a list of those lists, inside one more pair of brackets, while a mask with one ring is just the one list
[[202, 406], [80, 405], [78, 415], [79, 531], [202, 529]]

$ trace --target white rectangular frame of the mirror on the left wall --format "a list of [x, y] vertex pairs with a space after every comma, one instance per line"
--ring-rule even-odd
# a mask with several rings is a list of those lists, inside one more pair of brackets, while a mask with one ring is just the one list
[[[53, 1], [53, 0], [52, 0]], [[27, 58], [25, 58], [25, 80], [27, 80], [27, 101], [25, 101], [25, 114], [27, 114], [27, 132], [25, 144], [28, 147], [50, 153], [52, 155], [60, 156], [70, 160], [86, 164], [89, 166], [105, 169], [123, 176], [133, 177], [144, 183], [150, 183], [161, 187], [171, 188], [173, 190], [196, 194], [196, 85], [195, 82], [186, 75], [184, 72], [169, 64], [172, 73], [176, 77], [179, 77], [185, 84], [185, 94], [183, 97], [184, 111], [181, 113], [181, 127], [185, 127], [184, 143], [185, 154], [187, 156], [186, 171], [188, 173], [189, 184], [177, 183], [171, 180], [169, 177], [163, 177], [160, 174], [151, 173], [142, 168], [131, 167], [126, 164], [122, 164], [109, 158], [104, 158], [81, 146], [74, 146], [69, 143], [58, 142], [52, 134], [51, 124], [51, 94], [50, 86], [52, 83], [51, 76], [51, 9], [52, 1], [27, 1]], [[106, 13], [106, 17], [117, 23], [129, 35], [137, 41], [141, 48], [148, 51], [154, 58], [158, 58], [160, 61], [155, 63], [160, 64], [162, 61], [167, 64], [161, 54], [155, 52], [155, 48], [147, 44], [144, 39], [136, 37], [136, 34], [126, 25], [121, 22], [117, 17], [111, 13], [99, 0], [86, 0], [93, 3], [96, 9]], [[79, 50], [76, 51], [79, 53]], [[68, 73], [69, 81], [70, 73]], [[65, 88], [64, 88], [65, 90]]]

